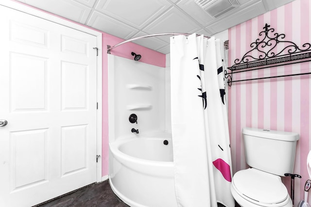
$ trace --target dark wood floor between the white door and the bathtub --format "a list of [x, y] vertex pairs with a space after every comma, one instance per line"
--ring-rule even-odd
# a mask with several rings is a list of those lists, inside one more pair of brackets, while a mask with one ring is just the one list
[[129, 207], [111, 190], [108, 180], [52, 199], [35, 207]]

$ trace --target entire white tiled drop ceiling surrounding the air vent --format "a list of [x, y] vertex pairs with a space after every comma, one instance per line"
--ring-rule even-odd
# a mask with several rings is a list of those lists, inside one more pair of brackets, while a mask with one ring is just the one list
[[[209, 15], [195, 0], [18, 1], [127, 40], [169, 32], [211, 36], [293, 0], [236, 0], [239, 7], [217, 18]], [[167, 54], [169, 41], [169, 37], [152, 37], [135, 43]]]

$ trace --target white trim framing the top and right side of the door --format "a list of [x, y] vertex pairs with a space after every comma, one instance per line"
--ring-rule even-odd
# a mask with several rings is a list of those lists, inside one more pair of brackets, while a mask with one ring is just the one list
[[[102, 80], [102, 67], [103, 67], [103, 53], [102, 53], [102, 32], [98, 32], [96, 30], [90, 29], [84, 25], [81, 25], [77, 22], [73, 22], [69, 19], [65, 19], [60, 16], [53, 15], [51, 13], [36, 9], [29, 5], [23, 4], [22, 2], [17, 2], [13, 0], [1, 1], [0, 5], [9, 7], [11, 9], [18, 10], [20, 12], [37, 16], [39, 18], [46, 19], [48, 21], [52, 21], [54, 23], [81, 31], [86, 32], [88, 34], [94, 35], [97, 38], [97, 48], [100, 50], [97, 56], [97, 102], [98, 102], [98, 110], [97, 110], [97, 155], [100, 155], [102, 158], [102, 114], [103, 114], [103, 80]], [[96, 107], [96, 106], [94, 106]], [[94, 158], [95, 160], [96, 158]], [[102, 159], [98, 159], [96, 165], [96, 182], [102, 182]]]

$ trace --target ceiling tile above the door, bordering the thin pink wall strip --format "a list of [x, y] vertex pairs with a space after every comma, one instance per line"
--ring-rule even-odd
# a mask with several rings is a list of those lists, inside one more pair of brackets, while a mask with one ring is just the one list
[[28, 5], [85, 24], [91, 9], [72, 0], [23, 0]]

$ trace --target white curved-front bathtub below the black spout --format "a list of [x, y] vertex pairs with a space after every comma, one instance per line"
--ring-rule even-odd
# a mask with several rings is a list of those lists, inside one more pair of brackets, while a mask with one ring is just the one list
[[[131, 207], [177, 207], [171, 134], [117, 140], [109, 144], [109, 182]], [[169, 143], [165, 145], [163, 142]]]

